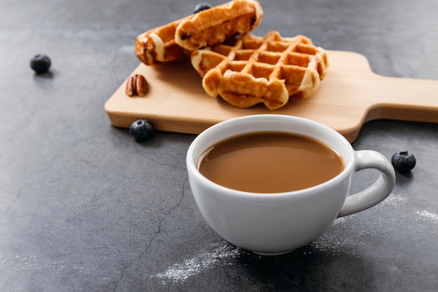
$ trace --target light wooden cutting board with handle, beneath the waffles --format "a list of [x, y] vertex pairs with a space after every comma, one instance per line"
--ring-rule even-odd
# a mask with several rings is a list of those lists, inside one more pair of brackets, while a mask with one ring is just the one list
[[128, 97], [125, 83], [105, 104], [116, 127], [129, 127], [147, 118], [157, 130], [199, 134], [207, 127], [238, 116], [278, 113], [309, 118], [337, 130], [354, 141], [369, 120], [380, 118], [438, 123], [438, 81], [392, 78], [374, 74], [365, 56], [329, 50], [330, 67], [315, 95], [290, 101], [271, 111], [259, 104], [239, 109], [207, 95], [202, 78], [190, 60], [148, 67], [140, 64], [132, 74], [143, 74], [150, 84], [144, 97]]

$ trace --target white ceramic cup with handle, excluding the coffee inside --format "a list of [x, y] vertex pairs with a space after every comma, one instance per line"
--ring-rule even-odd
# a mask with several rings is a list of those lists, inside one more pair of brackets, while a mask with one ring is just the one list
[[[329, 181], [285, 193], [248, 193], [220, 186], [197, 169], [206, 149], [249, 132], [304, 134], [332, 146], [345, 169]], [[187, 153], [190, 188], [197, 207], [218, 235], [243, 249], [263, 255], [288, 253], [313, 242], [335, 218], [379, 204], [393, 190], [395, 171], [376, 151], [355, 151], [339, 132], [312, 120], [277, 114], [225, 120], [199, 134]], [[351, 177], [360, 169], [377, 169], [379, 179], [360, 193], [348, 195]]]

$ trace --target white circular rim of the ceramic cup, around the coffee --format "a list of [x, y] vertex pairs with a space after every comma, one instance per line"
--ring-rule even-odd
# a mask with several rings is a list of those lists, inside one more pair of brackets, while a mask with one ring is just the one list
[[[303, 188], [300, 190], [290, 190], [290, 191], [286, 191], [286, 192], [279, 192], [279, 193], [255, 193], [255, 192], [248, 192], [248, 191], [244, 191], [244, 190], [235, 190], [233, 188], [227, 188], [225, 186], [221, 186], [218, 183], [215, 183], [214, 181], [211, 181], [210, 179], [207, 179], [206, 176], [204, 176], [203, 174], [201, 174], [201, 172], [199, 172], [199, 169], [197, 169], [197, 161], [199, 160], [199, 157], [194, 157], [194, 156], [195, 156], [195, 150], [196, 150], [197, 144], [200, 141], [202, 141], [202, 139], [204, 139], [205, 136], [209, 136], [209, 135], [211, 135], [211, 132], [213, 132], [213, 131], [216, 131], [216, 130], [223, 128], [223, 127], [228, 127], [232, 123], [240, 122], [243, 120], [246, 120], [246, 121], [262, 120], [262, 119], [269, 119], [270, 120], [272, 118], [281, 119], [281, 120], [290, 120], [290, 121], [294, 120], [294, 121], [304, 122], [304, 123], [307, 123], [309, 125], [313, 125], [315, 127], [320, 127], [320, 129], [324, 129], [325, 131], [330, 132], [330, 134], [332, 134], [332, 136], [336, 137], [335, 139], [337, 139], [339, 141], [339, 143], [341, 143], [342, 146], [347, 146], [346, 149], [349, 152], [349, 155], [351, 155], [351, 159], [346, 161], [346, 158], [344, 158], [344, 155], [341, 155], [341, 153], [339, 153], [344, 160], [345, 167], [342, 170], [342, 172], [339, 173], [337, 176], [334, 176], [332, 179], [329, 179], [328, 181], [325, 181], [323, 183], [319, 183], [316, 186], [311, 186], [309, 188]], [[257, 132], [257, 131], [259, 131], [259, 130], [255, 130], [254, 132]], [[234, 135], [229, 135], [229, 137], [233, 137], [233, 136]], [[308, 137], [311, 137], [311, 136], [309, 135]], [[314, 138], [318, 139], [318, 137], [314, 137]], [[320, 140], [320, 139], [318, 139], [318, 140]], [[325, 141], [323, 141], [323, 142], [325, 143]], [[211, 143], [211, 146], [215, 143], [216, 142]], [[204, 153], [204, 151], [206, 151], [206, 149], [208, 149], [208, 148], [202, 149], [201, 153]], [[338, 149], [335, 149], [335, 150], [338, 151]], [[344, 180], [346, 178], [346, 176], [348, 176], [348, 174], [351, 173], [351, 169], [353, 168], [353, 165], [354, 165], [353, 156], [354, 156], [354, 149], [351, 146], [350, 142], [342, 134], [340, 134], [336, 130], [332, 129], [331, 127], [328, 127], [327, 125], [324, 125], [322, 123], [318, 123], [315, 120], [310, 120], [307, 118], [269, 113], [269, 114], [256, 114], [256, 115], [250, 115], [250, 116], [240, 116], [237, 118], [230, 118], [228, 120], [224, 120], [220, 123], [217, 123], [217, 124], [212, 125], [211, 127], [207, 128], [206, 130], [201, 132], [197, 137], [195, 137], [195, 139], [190, 144], [190, 146], [188, 148], [187, 155], [186, 155], [186, 164], [187, 164], [188, 171], [192, 172], [192, 174], [195, 175], [197, 177], [197, 179], [199, 179], [199, 181], [201, 181], [204, 184], [208, 184], [211, 188], [215, 188], [217, 191], [224, 193], [224, 194], [227, 194], [227, 195], [235, 195], [235, 196], [239, 196], [239, 197], [242, 197], [242, 196], [243, 197], [253, 197], [253, 198], [257, 198], [257, 197], [258, 198], [260, 198], [260, 197], [266, 198], [267, 195], [269, 195], [269, 197], [288, 197], [290, 195], [299, 196], [299, 195], [309, 195], [309, 193], [317, 193], [315, 191], [318, 188], [326, 188], [328, 186], [332, 186], [333, 184], [336, 184], [338, 181]]]

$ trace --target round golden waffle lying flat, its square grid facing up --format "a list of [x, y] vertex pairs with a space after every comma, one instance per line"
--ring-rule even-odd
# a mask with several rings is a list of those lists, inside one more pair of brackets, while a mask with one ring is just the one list
[[209, 95], [220, 95], [241, 108], [264, 103], [268, 109], [278, 109], [289, 97], [309, 97], [328, 66], [325, 50], [313, 46], [311, 39], [283, 38], [278, 32], [264, 37], [244, 34], [195, 50], [191, 60]]

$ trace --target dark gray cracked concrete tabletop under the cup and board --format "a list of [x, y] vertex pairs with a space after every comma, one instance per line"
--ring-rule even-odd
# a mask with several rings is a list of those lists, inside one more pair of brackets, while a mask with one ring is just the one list
[[[438, 80], [438, 1], [260, 2], [256, 34], [304, 34], [377, 74]], [[104, 103], [139, 64], [136, 35], [197, 3], [0, 0], [0, 291], [437, 291], [438, 125], [364, 125], [356, 149], [409, 150], [416, 168], [379, 206], [276, 257], [227, 244], [199, 214], [185, 169], [195, 135], [138, 144], [111, 126]], [[31, 71], [36, 53], [50, 73]], [[359, 173], [352, 191], [374, 179]]]

